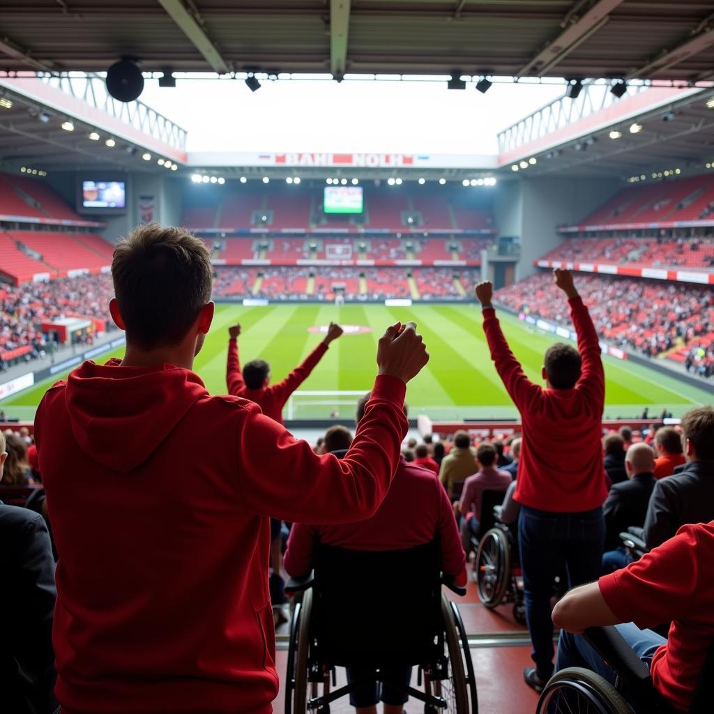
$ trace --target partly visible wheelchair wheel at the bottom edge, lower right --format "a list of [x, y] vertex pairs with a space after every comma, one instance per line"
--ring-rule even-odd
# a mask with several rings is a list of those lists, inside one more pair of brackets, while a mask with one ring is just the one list
[[538, 699], [535, 714], [633, 714], [623, 695], [599, 674], [581, 667], [556, 672]]

